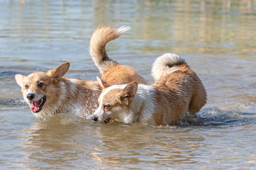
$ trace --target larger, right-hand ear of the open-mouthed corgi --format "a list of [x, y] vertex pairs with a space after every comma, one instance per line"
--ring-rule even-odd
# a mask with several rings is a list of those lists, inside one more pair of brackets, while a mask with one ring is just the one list
[[66, 72], [69, 69], [69, 66], [70, 66], [70, 63], [68, 63], [68, 62], [63, 63], [59, 67], [49, 70], [47, 72], [47, 75], [50, 76], [51, 78], [60, 79], [66, 74]]

